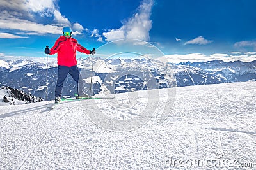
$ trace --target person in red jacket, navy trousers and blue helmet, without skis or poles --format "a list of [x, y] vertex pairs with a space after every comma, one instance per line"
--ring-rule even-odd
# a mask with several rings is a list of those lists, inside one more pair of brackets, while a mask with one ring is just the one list
[[[79, 94], [79, 86], [83, 84], [82, 80], [79, 80], [79, 69], [77, 67], [76, 51], [86, 54], [95, 54], [95, 48], [93, 50], [87, 50], [83, 46], [77, 43], [77, 40], [72, 38], [72, 29], [70, 27], [63, 27], [63, 35], [58, 38], [54, 46], [49, 49], [46, 46], [44, 53], [53, 55], [58, 53], [58, 80], [55, 88], [55, 103], [59, 103], [62, 95], [62, 88], [67, 75], [70, 74], [77, 83], [77, 94]], [[81, 86], [80, 86], [81, 87]], [[78, 89], [79, 88], [79, 89]], [[79, 97], [89, 97], [87, 94], [79, 94]]]

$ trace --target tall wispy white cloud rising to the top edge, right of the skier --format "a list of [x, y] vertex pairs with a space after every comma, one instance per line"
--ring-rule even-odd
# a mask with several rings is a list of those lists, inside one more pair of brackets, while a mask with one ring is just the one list
[[144, 0], [138, 7], [138, 12], [127, 21], [122, 22], [122, 27], [111, 29], [102, 35], [106, 38], [106, 41], [115, 41], [124, 38], [149, 41], [149, 31], [152, 28], [152, 21], [150, 20], [152, 6], [152, 0]]

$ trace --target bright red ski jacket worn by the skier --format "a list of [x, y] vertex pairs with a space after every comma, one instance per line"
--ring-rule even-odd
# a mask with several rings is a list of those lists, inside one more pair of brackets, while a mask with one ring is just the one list
[[58, 53], [58, 65], [72, 67], [76, 66], [76, 51], [89, 54], [90, 51], [77, 43], [77, 40], [70, 37], [60, 36], [50, 50], [50, 55]]

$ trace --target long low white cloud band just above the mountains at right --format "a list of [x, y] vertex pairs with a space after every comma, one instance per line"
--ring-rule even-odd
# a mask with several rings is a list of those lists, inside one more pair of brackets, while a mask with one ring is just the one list
[[163, 57], [159, 57], [159, 60], [171, 63], [180, 63], [180, 62], [207, 62], [212, 60], [223, 60], [224, 62], [241, 60], [243, 62], [250, 62], [256, 60], [256, 55], [251, 55], [251, 53], [239, 53], [237, 55], [233, 55], [232, 53], [214, 53], [212, 55], [205, 55], [202, 53], [189, 53], [189, 54], [172, 54], [172, 55], [164, 55]]

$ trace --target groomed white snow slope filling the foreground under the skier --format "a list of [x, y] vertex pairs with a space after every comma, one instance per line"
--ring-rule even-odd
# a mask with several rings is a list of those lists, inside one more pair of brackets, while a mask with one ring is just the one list
[[[255, 169], [255, 89], [255, 81], [177, 87], [164, 121], [159, 106], [166, 96], [148, 106], [147, 91], [130, 103], [134, 92], [54, 110], [45, 102], [1, 106], [0, 169]], [[90, 121], [90, 113], [129, 120], [145, 108], [159, 109], [134, 131], [108, 131]]]

